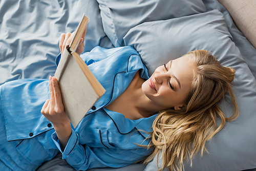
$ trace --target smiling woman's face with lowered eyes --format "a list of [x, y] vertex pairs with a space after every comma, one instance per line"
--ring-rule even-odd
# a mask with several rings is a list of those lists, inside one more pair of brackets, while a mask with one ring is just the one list
[[158, 67], [150, 79], [142, 84], [142, 91], [161, 110], [179, 110], [191, 88], [195, 73], [195, 63], [185, 55], [170, 60], [166, 65]]

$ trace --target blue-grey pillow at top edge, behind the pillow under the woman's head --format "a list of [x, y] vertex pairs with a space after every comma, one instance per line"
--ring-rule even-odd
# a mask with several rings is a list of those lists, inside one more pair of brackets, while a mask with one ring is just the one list
[[201, 0], [97, 1], [104, 32], [115, 47], [123, 46], [123, 36], [141, 23], [206, 12]]

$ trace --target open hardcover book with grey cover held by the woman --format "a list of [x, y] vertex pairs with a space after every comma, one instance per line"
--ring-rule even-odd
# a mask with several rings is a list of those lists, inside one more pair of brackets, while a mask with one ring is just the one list
[[72, 125], [76, 127], [105, 89], [75, 52], [89, 18], [83, 14], [71, 43], [63, 53], [55, 72], [62, 101]]

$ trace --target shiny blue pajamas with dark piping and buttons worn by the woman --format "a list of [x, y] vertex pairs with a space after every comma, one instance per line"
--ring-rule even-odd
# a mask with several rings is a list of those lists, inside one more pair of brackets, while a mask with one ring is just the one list
[[146, 132], [152, 131], [156, 115], [131, 120], [104, 108], [124, 92], [138, 70], [149, 78], [138, 52], [132, 47], [96, 47], [81, 57], [106, 92], [72, 130], [64, 151], [53, 125], [40, 113], [49, 99], [49, 81], [20, 79], [0, 86], [0, 170], [35, 170], [59, 151], [77, 170], [122, 167], [150, 153], [136, 143], [148, 144]]

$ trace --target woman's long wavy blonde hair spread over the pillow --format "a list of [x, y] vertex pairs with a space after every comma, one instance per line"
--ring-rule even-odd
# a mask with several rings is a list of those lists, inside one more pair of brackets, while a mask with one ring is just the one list
[[[184, 161], [200, 151], [201, 156], [207, 149], [206, 141], [218, 133], [226, 121], [234, 120], [239, 115], [238, 105], [232, 91], [231, 82], [235, 71], [223, 67], [216, 58], [206, 50], [191, 51], [190, 60], [197, 66], [190, 92], [181, 110], [162, 111], [153, 123], [151, 143], [152, 154], [144, 160], [147, 164], [156, 155], [160, 155], [162, 165], [169, 170], [184, 170]], [[229, 92], [233, 114], [225, 117], [220, 109], [220, 101]], [[217, 125], [217, 118], [221, 123]]]

